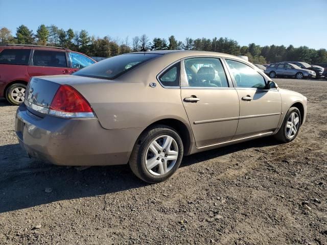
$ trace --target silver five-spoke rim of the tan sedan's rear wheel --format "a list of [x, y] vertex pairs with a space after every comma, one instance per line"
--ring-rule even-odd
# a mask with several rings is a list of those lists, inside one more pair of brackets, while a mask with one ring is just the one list
[[146, 151], [145, 165], [150, 174], [161, 176], [167, 174], [178, 158], [178, 146], [175, 139], [164, 135], [155, 138]]

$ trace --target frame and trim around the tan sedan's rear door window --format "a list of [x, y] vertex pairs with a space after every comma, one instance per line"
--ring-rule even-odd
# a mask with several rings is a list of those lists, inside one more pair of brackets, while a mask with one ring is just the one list
[[[222, 66], [223, 66], [224, 72], [225, 72], [225, 76], [226, 76], [226, 79], [227, 79], [227, 85], [228, 85], [228, 87], [192, 87], [192, 86], [190, 86], [189, 85], [189, 80], [188, 80], [187, 75], [186, 75], [184, 61], [185, 60], [188, 60], [188, 59], [195, 59], [195, 58], [199, 58], [199, 59], [201, 59], [201, 58], [202, 59], [210, 58], [210, 59], [218, 59], [218, 60], [220, 60]], [[231, 80], [231, 77], [230, 77], [229, 72], [226, 72], [227, 71], [227, 67], [226, 67], [226, 65], [223, 62], [223, 58], [220, 57], [220, 56], [210, 56], [210, 55], [205, 55], [205, 56], [188, 56], [188, 57], [182, 58], [180, 60], [180, 62], [181, 62], [181, 69], [180, 69], [180, 73], [181, 73], [181, 81], [180, 81], [181, 88], [189, 88], [189, 89], [235, 89], [235, 86], [233, 86], [233, 83], [232, 83], [232, 80]]]

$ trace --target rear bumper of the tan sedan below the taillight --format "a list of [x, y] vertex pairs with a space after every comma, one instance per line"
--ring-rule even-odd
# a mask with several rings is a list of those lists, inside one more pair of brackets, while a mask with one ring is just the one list
[[107, 130], [98, 119], [36, 116], [22, 104], [15, 131], [29, 156], [57, 165], [119, 165], [128, 162], [142, 128]]

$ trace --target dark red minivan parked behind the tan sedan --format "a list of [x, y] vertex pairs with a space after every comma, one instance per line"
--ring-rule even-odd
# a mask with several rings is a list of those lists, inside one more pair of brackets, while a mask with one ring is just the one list
[[0, 97], [6, 97], [12, 105], [20, 105], [31, 77], [72, 74], [95, 62], [62, 47], [0, 45]]

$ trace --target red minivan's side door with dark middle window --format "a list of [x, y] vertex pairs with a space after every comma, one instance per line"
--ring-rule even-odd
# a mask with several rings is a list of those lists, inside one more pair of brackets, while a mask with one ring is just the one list
[[28, 74], [30, 77], [70, 74], [66, 52], [34, 50]]

